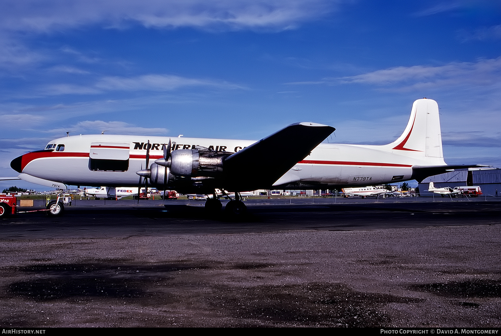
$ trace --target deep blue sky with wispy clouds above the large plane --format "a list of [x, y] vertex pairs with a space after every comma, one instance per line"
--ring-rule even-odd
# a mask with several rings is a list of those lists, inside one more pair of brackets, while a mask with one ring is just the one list
[[66, 131], [383, 144], [424, 96], [447, 163], [501, 165], [499, 1], [3, 0], [0, 76], [0, 176]]

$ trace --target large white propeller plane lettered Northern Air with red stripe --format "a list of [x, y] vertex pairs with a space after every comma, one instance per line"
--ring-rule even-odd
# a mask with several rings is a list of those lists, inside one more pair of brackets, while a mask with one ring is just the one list
[[[11, 162], [19, 178], [55, 188], [67, 185], [139, 186], [213, 194], [208, 211], [221, 209], [215, 188], [235, 192], [225, 212], [246, 209], [238, 192], [256, 189], [335, 189], [384, 184], [454, 168], [443, 159], [438, 105], [414, 101], [404, 132], [385, 145], [321, 143], [334, 127], [289, 125], [259, 141], [164, 136], [74, 135]], [[155, 159], [150, 164], [150, 158]], [[138, 176], [139, 175], [139, 176]], [[138, 178], [139, 177], [139, 182]]]

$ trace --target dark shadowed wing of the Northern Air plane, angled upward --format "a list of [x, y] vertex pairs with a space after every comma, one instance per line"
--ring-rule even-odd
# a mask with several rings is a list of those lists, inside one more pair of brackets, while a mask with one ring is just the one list
[[224, 188], [268, 189], [335, 130], [313, 122], [289, 125], [228, 156], [223, 163]]

